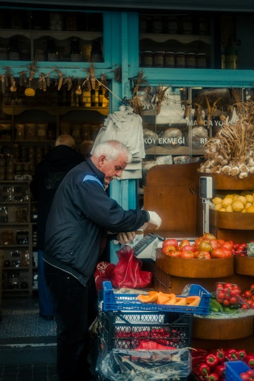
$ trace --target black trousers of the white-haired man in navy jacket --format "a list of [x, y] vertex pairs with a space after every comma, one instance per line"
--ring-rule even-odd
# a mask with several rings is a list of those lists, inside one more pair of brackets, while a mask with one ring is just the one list
[[97, 314], [94, 277], [84, 286], [46, 262], [44, 273], [54, 302], [58, 380], [87, 379], [88, 328]]

